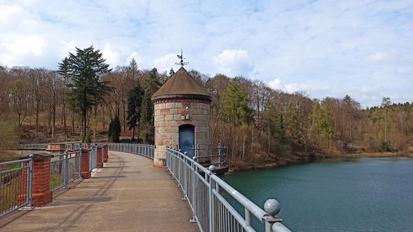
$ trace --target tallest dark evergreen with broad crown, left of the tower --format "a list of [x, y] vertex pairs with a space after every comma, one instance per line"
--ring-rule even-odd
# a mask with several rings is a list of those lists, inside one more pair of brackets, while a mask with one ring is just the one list
[[111, 70], [100, 50], [94, 50], [93, 46], [83, 50], [76, 48], [76, 54], [69, 52], [67, 58], [69, 61], [65, 59], [62, 63], [70, 63], [66, 71], [70, 76], [70, 83], [67, 85], [70, 88], [68, 100], [72, 109], [82, 114], [82, 136], [84, 136], [87, 110], [102, 101], [103, 96], [109, 92], [109, 87], [100, 81], [100, 76]]

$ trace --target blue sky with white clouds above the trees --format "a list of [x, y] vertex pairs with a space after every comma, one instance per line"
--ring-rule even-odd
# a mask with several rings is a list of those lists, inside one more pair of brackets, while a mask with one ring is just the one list
[[4, 1], [0, 65], [56, 69], [75, 46], [169, 70], [260, 79], [363, 107], [413, 101], [413, 1]]

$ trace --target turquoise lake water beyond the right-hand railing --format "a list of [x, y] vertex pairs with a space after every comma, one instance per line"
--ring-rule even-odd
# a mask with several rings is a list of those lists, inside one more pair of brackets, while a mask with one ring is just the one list
[[260, 207], [279, 200], [293, 231], [413, 231], [412, 158], [323, 160], [229, 173], [225, 181]]

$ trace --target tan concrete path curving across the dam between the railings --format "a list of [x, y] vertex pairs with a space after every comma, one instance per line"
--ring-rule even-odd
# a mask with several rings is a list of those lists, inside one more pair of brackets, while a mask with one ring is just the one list
[[91, 179], [55, 192], [47, 207], [0, 218], [0, 231], [199, 231], [176, 182], [152, 164], [109, 151], [109, 162]]

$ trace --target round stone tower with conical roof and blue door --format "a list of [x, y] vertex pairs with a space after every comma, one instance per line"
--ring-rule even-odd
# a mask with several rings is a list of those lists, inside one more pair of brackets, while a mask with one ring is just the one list
[[[209, 145], [209, 110], [212, 97], [184, 69], [180, 69], [153, 94], [155, 156], [153, 165], [166, 165], [166, 147], [191, 149]], [[193, 156], [193, 151], [187, 151]]]

